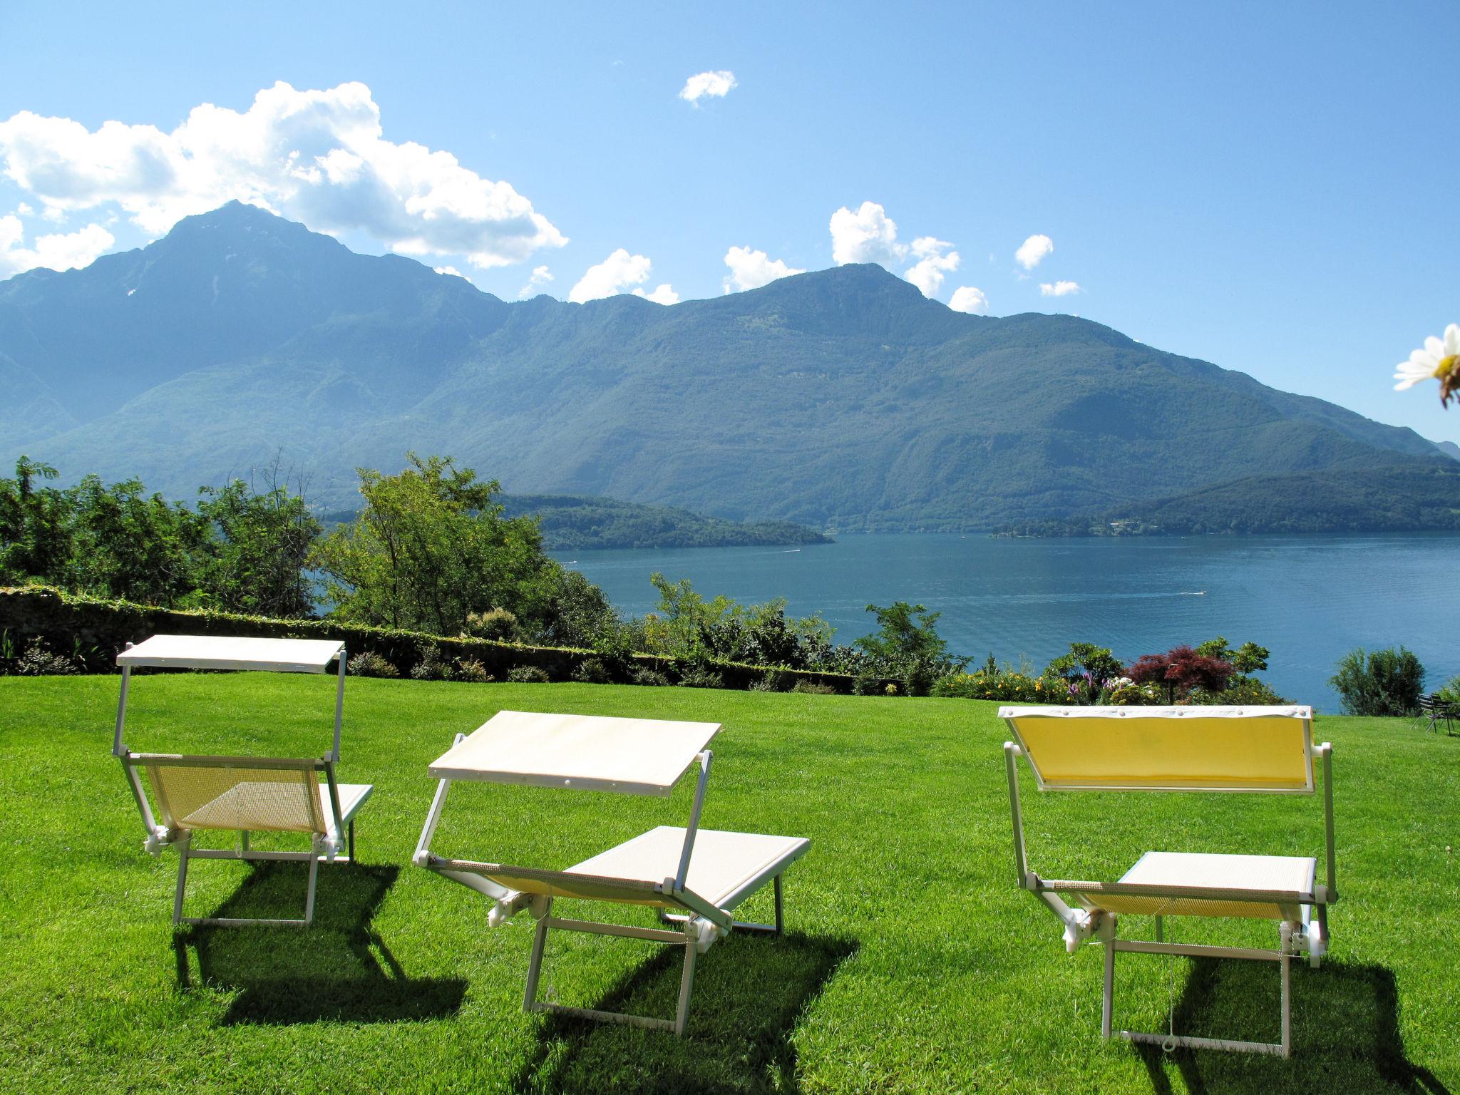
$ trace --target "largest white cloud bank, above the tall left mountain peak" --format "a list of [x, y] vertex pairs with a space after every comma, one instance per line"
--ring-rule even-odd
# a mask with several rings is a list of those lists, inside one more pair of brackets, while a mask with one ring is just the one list
[[20, 111], [0, 121], [4, 175], [42, 216], [114, 203], [149, 235], [231, 199], [323, 232], [365, 232], [413, 256], [520, 263], [564, 235], [508, 182], [450, 152], [383, 137], [364, 83], [295, 91], [279, 82], [238, 112], [201, 104], [171, 133]]

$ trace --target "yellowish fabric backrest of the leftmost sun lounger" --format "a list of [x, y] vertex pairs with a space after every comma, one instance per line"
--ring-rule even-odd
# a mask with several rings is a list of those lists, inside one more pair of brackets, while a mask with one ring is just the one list
[[158, 815], [169, 829], [254, 829], [326, 832], [320, 777], [308, 761], [298, 768], [147, 764]]

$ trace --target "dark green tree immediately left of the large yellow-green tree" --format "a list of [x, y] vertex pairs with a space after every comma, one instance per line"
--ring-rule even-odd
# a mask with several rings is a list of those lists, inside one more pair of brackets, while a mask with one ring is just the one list
[[235, 479], [204, 486], [197, 511], [212, 526], [200, 585], [218, 607], [260, 616], [310, 616], [310, 552], [320, 523], [277, 474], [256, 491]]

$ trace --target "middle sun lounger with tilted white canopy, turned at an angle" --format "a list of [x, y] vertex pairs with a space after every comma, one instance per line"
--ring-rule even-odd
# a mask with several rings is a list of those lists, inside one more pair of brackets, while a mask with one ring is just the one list
[[[711, 761], [705, 746], [718, 730], [718, 723], [499, 711], [470, 737], [457, 734], [456, 745], [431, 765], [431, 775], [439, 783], [415, 863], [491, 898], [493, 904], [488, 923], [493, 927], [523, 910], [537, 921], [524, 1010], [552, 1010], [682, 1035], [689, 1018], [695, 955], [733, 929], [781, 934], [781, 875], [806, 854], [810, 841], [699, 828]], [[699, 761], [699, 784], [686, 828], [661, 825], [566, 870], [445, 858], [431, 851], [447, 790], [454, 780], [667, 797], [695, 761]], [[736, 920], [736, 907], [766, 882], [775, 886], [775, 923]], [[677, 929], [555, 917], [552, 908], [558, 898], [657, 908], [660, 920]], [[685, 968], [675, 1019], [537, 1000], [549, 929], [682, 945]]]

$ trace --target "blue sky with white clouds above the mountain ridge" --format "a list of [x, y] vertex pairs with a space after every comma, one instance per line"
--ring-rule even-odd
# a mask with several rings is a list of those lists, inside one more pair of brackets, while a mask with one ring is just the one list
[[1453, 0], [539, 7], [9, 0], [0, 276], [239, 193], [507, 299], [537, 267], [561, 298], [712, 296], [730, 248], [743, 283], [929, 260], [940, 301], [1460, 439], [1432, 385], [1391, 391], [1460, 323]]

